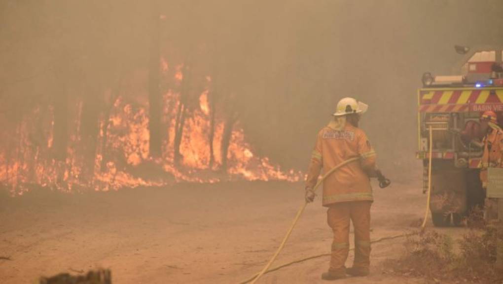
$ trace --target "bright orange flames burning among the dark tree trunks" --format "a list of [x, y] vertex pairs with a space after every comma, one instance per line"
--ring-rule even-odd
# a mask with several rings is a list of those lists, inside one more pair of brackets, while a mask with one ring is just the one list
[[[162, 69], [167, 70], [167, 66], [167, 62], [162, 61]], [[182, 81], [183, 65], [176, 65], [175, 69], [175, 79]], [[207, 76], [206, 82], [211, 84], [211, 77]], [[294, 182], [303, 177], [301, 172], [284, 172], [267, 157], [257, 156], [246, 142], [239, 122], [233, 125], [230, 135], [226, 171], [221, 171], [225, 123], [223, 118], [215, 116], [214, 134], [210, 141], [210, 114], [214, 110], [210, 108], [209, 96], [208, 87], [199, 96], [199, 107], [187, 110], [180, 144], [180, 165], [175, 165], [174, 159], [175, 124], [181, 104], [180, 94], [169, 90], [163, 96], [163, 127], [167, 137], [159, 159], [149, 157], [147, 106], [118, 97], [113, 102], [109, 117], [102, 118], [100, 122], [96, 155], [90, 173], [85, 170], [89, 164], [86, 162], [88, 157], [83, 157], [80, 152], [85, 147], [79, 136], [82, 104], [76, 104], [69, 111], [76, 115], [69, 122], [65, 161], [56, 161], [52, 156], [53, 108], [49, 107], [44, 112], [45, 115], [40, 109], [35, 109], [33, 115], [26, 117], [16, 130], [18, 147], [15, 147], [15, 151], [8, 152], [7, 147], [0, 149], [0, 184], [8, 185], [13, 193], [23, 194], [30, 188], [30, 184], [70, 192], [87, 188], [106, 191], [123, 187], [160, 186], [177, 181], [218, 182], [244, 179]], [[39, 128], [44, 129], [43, 133], [39, 133], [42, 143], [38, 140], [34, 142], [31, 136], [37, 123]], [[210, 165], [211, 144], [213, 161]], [[151, 171], [155, 171], [156, 175], [152, 177], [144, 174]]]

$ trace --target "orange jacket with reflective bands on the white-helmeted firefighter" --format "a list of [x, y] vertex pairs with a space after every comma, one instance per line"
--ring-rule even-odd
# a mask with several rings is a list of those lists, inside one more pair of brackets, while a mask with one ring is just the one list
[[326, 173], [348, 159], [361, 157], [360, 161], [340, 168], [324, 180], [322, 204], [329, 206], [337, 202], [372, 201], [372, 187], [367, 172], [375, 169], [376, 154], [367, 135], [350, 123], [337, 125], [332, 122], [323, 127], [316, 137], [306, 188], [314, 187], [321, 168]]

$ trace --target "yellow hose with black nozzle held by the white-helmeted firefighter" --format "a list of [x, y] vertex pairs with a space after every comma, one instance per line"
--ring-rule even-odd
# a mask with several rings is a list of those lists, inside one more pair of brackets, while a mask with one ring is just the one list
[[[333, 167], [332, 169], [330, 169], [326, 174], [324, 174], [319, 180], [318, 182], [316, 183], [316, 185], [314, 186], [314, 188], [312, 189], [313, 191], [316, 191], [316, 189], [323, 183], [323, 181], [329, 176], [331, 175], [333, 172], [339, 170], [340, 168], [352, 163], [352, 162], [356, 162], [356, 161], [359, 161], [361, 159], [361, 157], [355, 157], [355, 158], [351, 158], [351, 159], [348, 159], [344, 162], [342, 162], [341, 164]], [[391, 181], [389, 179], [387, 179], [386, 177], [384, 177], [384, 175], [381, 173], [381, 171], [379, 170], [376, 170], [376, 175], [377, 175], [377, 179], [379, 180], [379, 187], [381, 188], [384, 188], [384, 187], [387, 187], [388, 185], [391, 184]], [[288, 232], [286, 233], [285, 237], [283, 238], [283, 241], [281, 242], [280, 246], [278, 247], [278, 249], [276, 250], [276, 253], [273, 255], [273, 257], [269, 260], [269, 262], [266, 264], [266, 266], [257, 274], [255, 274], [254, 276], [252, 276], [251, 278], [241, 282], [241, 283], [247, 283], [249, 281], [251, 281], [251, 284], [254, 284], [255, 282], [257, 282], [257, 280], [259, 280], [260, 277], [262, 277], [262, 275], [264, 275], [265, 273], [269, 272], [269, 271], [272, 271], [272, 270], [268, 270], [269, 267], [273, 264], [273, 262], [276, 260], [276, 257], [278, 257], [279, 253], [281, 252], [281, 250], [283, 250], [283, 247], [285, 246], [286, 244], [286, 241], [288, 240], [288, 238], [290, 237], [290, 235], [292, 234], [292, 231], [293, 231], [293, 228], [295, 227], [295, 225], [297, 224], [297, 221], [299, 220], [300, 216], [302, 215], [302, 212], [304, 212], [304, 209], [306, 208], [306, 205], [307, 205], [307, 201], [304, 201], [304, 204], [302, 204], [302, 206], [300, 206], [299, 210], [297, 211], [297, 215], [295, 216], [294, 220], [293, 220], [293, 223], [292, 225], [290, 226], [290, 229], [288, 230]], [[321, 255], [318, 255], [318, 256], [315, 256], [315, 257], [319, 257]], [[310, 257], [310, 258], [314, 258], [314, 257]], [[303, 260], [301, 260], [303, 261]], [[300, 262], [300, 261], [298, 261]], [[293, 262], [295, 263], [295, 262]], [[289, 263], [289, 264], [292, 264], [292, 263]], [[289, 265], [287, 264], [287, 265]], [[286, 266], [286, 265], [283, 265], [283, 266]], [[279, 269], [283, 266], [280, 266], [280, 267], [276, 267], [274, 270], [276, 269]], [[241, 284], [240, 283], [240, 284]]]

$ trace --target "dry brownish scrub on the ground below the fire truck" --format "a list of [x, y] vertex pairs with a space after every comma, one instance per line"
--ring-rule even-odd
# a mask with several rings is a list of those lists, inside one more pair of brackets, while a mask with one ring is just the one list
[[498, 283], [503, 275], [495, 266], [496, 240], [492, 226], [470, 230], [457, 241], [435, 231], [419, 232], [407, 237], [400, 259], [386, 261], [385, 272], [425, 277], [431, 283]]

